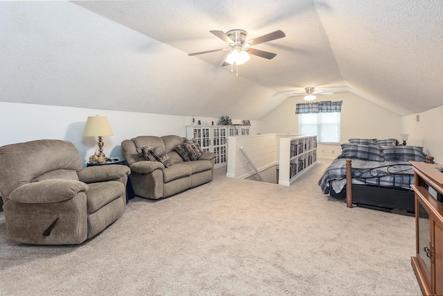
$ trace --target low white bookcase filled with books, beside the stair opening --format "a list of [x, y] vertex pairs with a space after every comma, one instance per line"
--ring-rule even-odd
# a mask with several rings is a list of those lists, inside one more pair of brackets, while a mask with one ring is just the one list
[[317, 161], [317, 136], [301, 134], [280, 138], [278, 184], [290, 186]]

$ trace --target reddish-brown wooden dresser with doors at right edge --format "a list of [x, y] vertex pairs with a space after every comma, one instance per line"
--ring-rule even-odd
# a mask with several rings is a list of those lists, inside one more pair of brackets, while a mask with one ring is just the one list
[[443, 295], [443, 173], [441, 164], [410, 162], [415, 171], [416, 256], [412, 265], [424, 295]]

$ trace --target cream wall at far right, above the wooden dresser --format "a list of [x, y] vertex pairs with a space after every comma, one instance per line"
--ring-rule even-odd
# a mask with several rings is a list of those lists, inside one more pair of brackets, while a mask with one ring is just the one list
[[422, 146], [426, 154], [434, 157], [434, 162], [443, 164], [443, 105], [419, 114], [404, 116], [402, 123], [402, 133], [409, 134], [408, 145]]

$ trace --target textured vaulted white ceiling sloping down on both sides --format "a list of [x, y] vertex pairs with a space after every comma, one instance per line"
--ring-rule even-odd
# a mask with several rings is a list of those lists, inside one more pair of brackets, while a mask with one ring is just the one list
[[[261, 119], [314, 86], [399, 115], [443, 105], [440, 0], [17, 1], [0, 28], [0, 101]], [[239, 76], [224, 51], [187, 55], [234, 28], [286, 37]]]

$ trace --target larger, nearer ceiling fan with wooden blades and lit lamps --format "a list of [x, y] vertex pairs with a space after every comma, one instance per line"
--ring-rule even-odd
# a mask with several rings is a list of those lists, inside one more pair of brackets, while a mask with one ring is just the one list
[[[248, 35], [248, 33], [244, 30], [234, 29], [226, 33], [224, 33], [223, 31], [210, 31], [210, 33], [213, 33], [215, 36], [219, 37], [221, 40], [228, 43], [229, 46], [226, 47], [225, 49], [200, 51], [198, 53], [189, 53], [188, 55], [192, 56], [192, 55], [201, 55], [204, 53], [214, 53], [217, 51], [231, 51], [221, 66], [227, 66], [228, 64], [230, 64], [230, 65], [235, 65], [236, 67], [239, 64], [244, 64], [249, 60], [250, 57], [248, 53], [250, 53], [251, 55], [257, 55], [261, 58], [266, 58], [268, 60], [271, 60], [272, 58], [275, 57], [275, 55], [277, 55], [276, 53], [270, 53], [268, 51], [260, 51], [260, 49], [252, 49], [251, 46], [286, 36], [282, 31], [278, 30], [246, 41], [246, 36]], [[231, 71], [233, 71], [232, 68]], [[237, 71], [237, 76], [238, 76], [238, 71]]]

